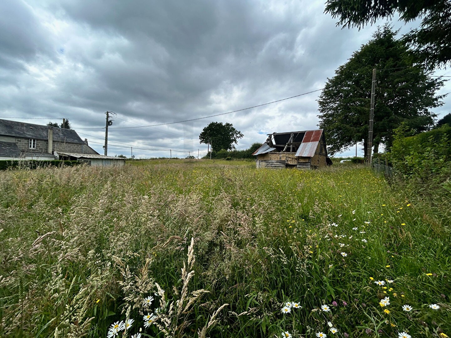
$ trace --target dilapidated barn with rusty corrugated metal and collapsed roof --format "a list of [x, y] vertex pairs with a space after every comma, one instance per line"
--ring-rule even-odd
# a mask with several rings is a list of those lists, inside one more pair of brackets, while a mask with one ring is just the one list
[[331, 164], [323, 129], [273, 132], [252, 155], [257, 168], [315, 169]]

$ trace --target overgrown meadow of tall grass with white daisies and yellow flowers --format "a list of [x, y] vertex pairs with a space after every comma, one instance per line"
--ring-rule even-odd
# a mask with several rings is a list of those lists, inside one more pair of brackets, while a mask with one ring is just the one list
[[369, 169], [135, 164], [0, 172], [1, 337], [451, 336], [450, 220]]

